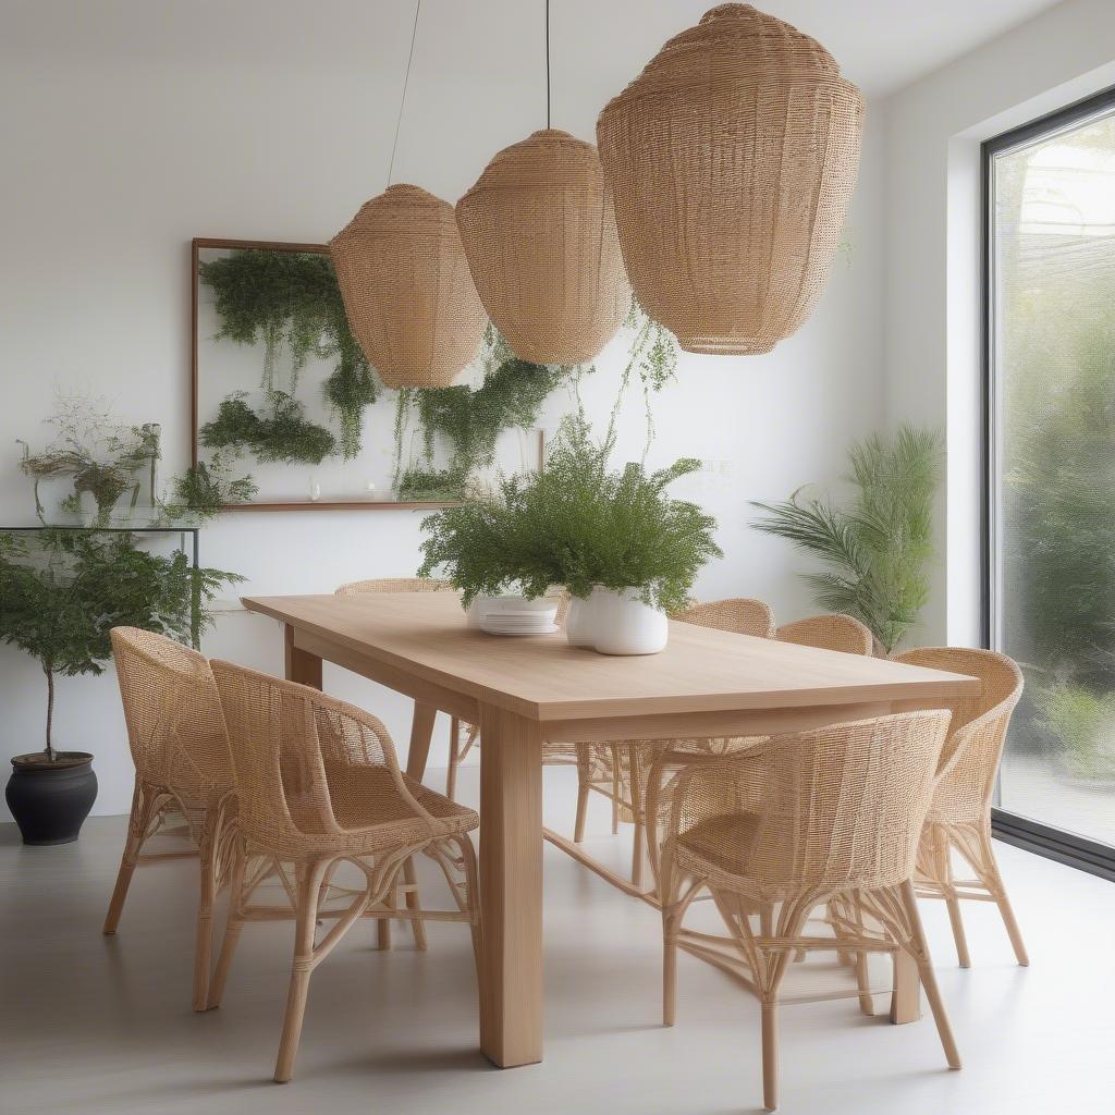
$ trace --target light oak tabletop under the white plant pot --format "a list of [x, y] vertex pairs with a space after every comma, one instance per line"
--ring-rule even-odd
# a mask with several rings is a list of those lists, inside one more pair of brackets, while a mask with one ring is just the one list
[[980, 681], [859, 655], [671, 621], [659, 655], [610, 657], [564, 633], [469, 629], [455, 593], [245, 597], [271, 615], [388, 666], [536, 720], [927, 701]]

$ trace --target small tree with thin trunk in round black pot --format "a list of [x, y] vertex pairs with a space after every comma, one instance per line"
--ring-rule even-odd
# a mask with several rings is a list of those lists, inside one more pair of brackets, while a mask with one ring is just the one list
[[127, 533], [46, 529], [32, 546], [0, 533], [0, 640], [37, 658], [47, 683], [46, 746], [12, 758], [7, 799], [26, 844], [77, 840], [97, 795], [93, 756], [54, 744], [59, 676], [101, 673], [112, 655], [109, 631], [126, 624], [185, 640], [201, 608], [240, 578], [193, 569], [136, 549]]

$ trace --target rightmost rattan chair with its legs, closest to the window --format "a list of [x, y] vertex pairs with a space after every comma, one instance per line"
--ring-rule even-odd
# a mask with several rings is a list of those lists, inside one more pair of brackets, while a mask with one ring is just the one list
[[[1022, 673], [1006, 655], [963, 647], [924, 647], [899, 655], [899, 662], [967, 673], [983, 682], [979, 697], [953, 699], [944, 760], [954, 759], [941, 778], [925, 820], [914, 881], [921, 898], [943, 899], [949, 910], [961, 968], [971, 959], [960, 902], [993, 902], [1020, 964], [1029, 957], [991, 846], [991, 795], [1007, 738], [1010, 715], [1022, 695]], [[976, 873], [957, 879], [953, 851]]]

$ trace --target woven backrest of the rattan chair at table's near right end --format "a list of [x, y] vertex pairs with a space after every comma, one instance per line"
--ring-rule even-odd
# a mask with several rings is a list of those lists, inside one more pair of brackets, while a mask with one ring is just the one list
[[946, 711], [900, 712], [690, 767], [669, 832], [760, 893], [896, 885], [913, 871], [948, 724]]

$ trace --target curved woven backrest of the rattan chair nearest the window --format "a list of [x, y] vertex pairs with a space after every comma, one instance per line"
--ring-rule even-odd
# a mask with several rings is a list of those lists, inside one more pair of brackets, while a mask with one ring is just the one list
[[1022, 671], [1006, 655], [968, 647], [920, 647], [895, 661], [967, 673], [982, 682], [977, 697], [941, 701], [952, 710], [952, 724], [932, 809], [953, 821], [979, 820], [990, 805], [1010, 715], [1022, 696]]

